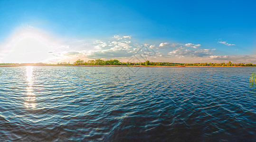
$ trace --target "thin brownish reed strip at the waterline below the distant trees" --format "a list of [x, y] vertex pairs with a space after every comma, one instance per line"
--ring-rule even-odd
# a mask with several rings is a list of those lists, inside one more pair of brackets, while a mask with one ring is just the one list
[[[42, 65], [32, 67], [254, 67], [254, 66], [153, 66], [153, 65]], [[20, 65], [0, 65], [0, 67], [26, 67]]]

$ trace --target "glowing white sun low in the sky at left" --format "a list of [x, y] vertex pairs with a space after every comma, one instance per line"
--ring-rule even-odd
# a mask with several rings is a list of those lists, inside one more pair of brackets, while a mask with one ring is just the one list
[[9, 40], [9, 53], [5, 61], [18, 63], [44, 62], [50, 58], [52, 49], [49, 37], [35, 29], [22, 30], [14, 34]]

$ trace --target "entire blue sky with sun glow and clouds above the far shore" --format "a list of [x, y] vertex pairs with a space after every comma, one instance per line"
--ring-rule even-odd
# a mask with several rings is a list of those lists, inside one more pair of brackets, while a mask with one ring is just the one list
[[0, 62], [138, 56], [256, 63], [255, 5], [253, 0], [0, 0]]

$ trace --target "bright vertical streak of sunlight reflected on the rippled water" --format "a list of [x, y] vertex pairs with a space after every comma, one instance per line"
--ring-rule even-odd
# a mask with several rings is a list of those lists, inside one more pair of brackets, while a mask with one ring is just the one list
[[35, 97], [35, 94], [34, 94], [33, 88], [32, 88], [33, 87], [33, 78], [32, 78], [33, 67], [27, 66], [26, 71], [27, 71], [27, 88], [26, 88], [27, 98], [26, 98], [26, 101], [24, 104], [26, 105], [26, 107], [35, 108], [36, 107], [36, 103], [35, 103], [36, 97]]

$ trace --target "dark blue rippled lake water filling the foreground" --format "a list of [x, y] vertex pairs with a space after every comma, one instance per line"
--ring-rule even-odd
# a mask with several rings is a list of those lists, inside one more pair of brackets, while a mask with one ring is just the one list
[[256, 141], [254, 67], [0, 70], [0, 141]]

